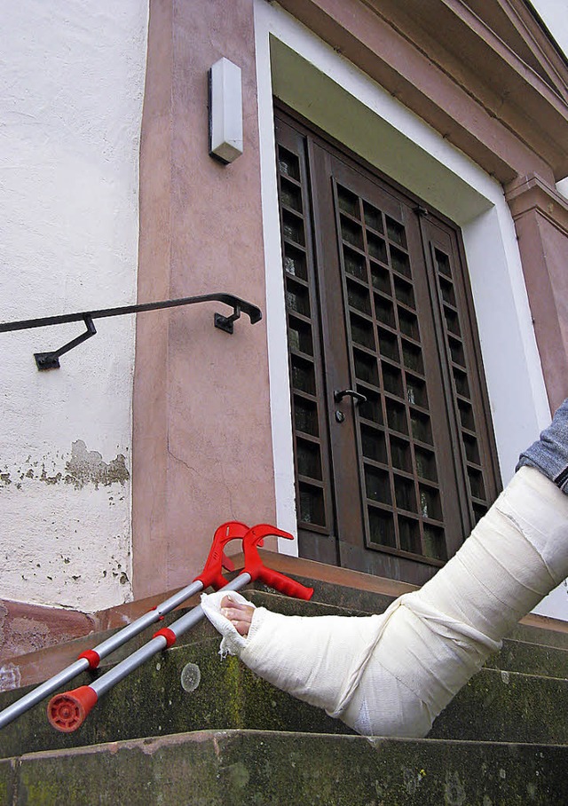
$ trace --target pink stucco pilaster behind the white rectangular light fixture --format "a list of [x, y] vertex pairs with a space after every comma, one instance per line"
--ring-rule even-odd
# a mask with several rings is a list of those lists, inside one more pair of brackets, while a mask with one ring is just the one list
[[[244, 154], [209, 157], [208, 70], [241, 67]], [[226, 291], [264, 309], [251, 0], [150, 6], [138, 299]], [[138, 317], [134, 387], [136, 597], [201, 570], [217, 525], [274, 519], [264, 320], [233, 336], [203, 304]]]

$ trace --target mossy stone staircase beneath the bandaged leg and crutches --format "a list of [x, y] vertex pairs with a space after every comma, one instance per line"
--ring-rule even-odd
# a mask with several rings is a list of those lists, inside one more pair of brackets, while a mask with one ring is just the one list
[[[311, 602], [249, 591], [257, 605], [280, 612], [380, 612], [408, 589], [289, 557], [272, 555], [267, 565], [315, 588]], [[37, 653], [45, 676], [54, 653], [62, 668], [99, 640]], [[6, 726], [1, 806], [568, 804], [563, 622], [531, 616], [518, 625], [422, 740], [359, 737], [236, 659], [221, 660], [218, 644], [201, 622], [102, 697], [75, 733], [53, 731], [45, 703]], [[90, 680], [85, 673], [65, 688]], [[0, 708], [25, 691], [4, 692]]]

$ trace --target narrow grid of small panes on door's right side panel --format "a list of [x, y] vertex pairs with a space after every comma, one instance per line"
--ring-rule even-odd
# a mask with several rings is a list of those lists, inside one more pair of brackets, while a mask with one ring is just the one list
[[460, 312], [456, 304], [454, 277], [450, 257], [438, 247], [433, 248], [434, 267], [438, 282], [442, 311], [443, 327], [446, 336], [447, 350], [452, 368], [454, 399], [459, 412], [461, 444], [466, 459], [468, 475], [469, 506], [475, 522], [485, 515], [489, 502], [485, 493], [486, 486], [483, 468], [479, 456], [474, 408], [469, 391], [466, 351]]

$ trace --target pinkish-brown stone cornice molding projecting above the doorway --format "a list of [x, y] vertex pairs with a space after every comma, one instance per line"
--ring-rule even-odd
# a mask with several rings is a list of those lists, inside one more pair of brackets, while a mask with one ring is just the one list
[[519, 30], [533, 28], [523, 39], [533, 66], [463, 0], [280, 5], [503, 185], [531, 172], [558, 181], [568, 175], [568, 66], [537, 21], [517, 9], [521, 0], [485, 2], [511, 6], [519, 49]]

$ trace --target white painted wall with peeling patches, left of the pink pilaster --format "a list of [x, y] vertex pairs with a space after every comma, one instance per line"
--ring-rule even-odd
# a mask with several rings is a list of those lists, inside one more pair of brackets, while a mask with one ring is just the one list
[[[136, 300], [148, 0], [0, 0], [0, 320]], [[131, 597], [134, 321], [0, 334], [0, 597]]]

